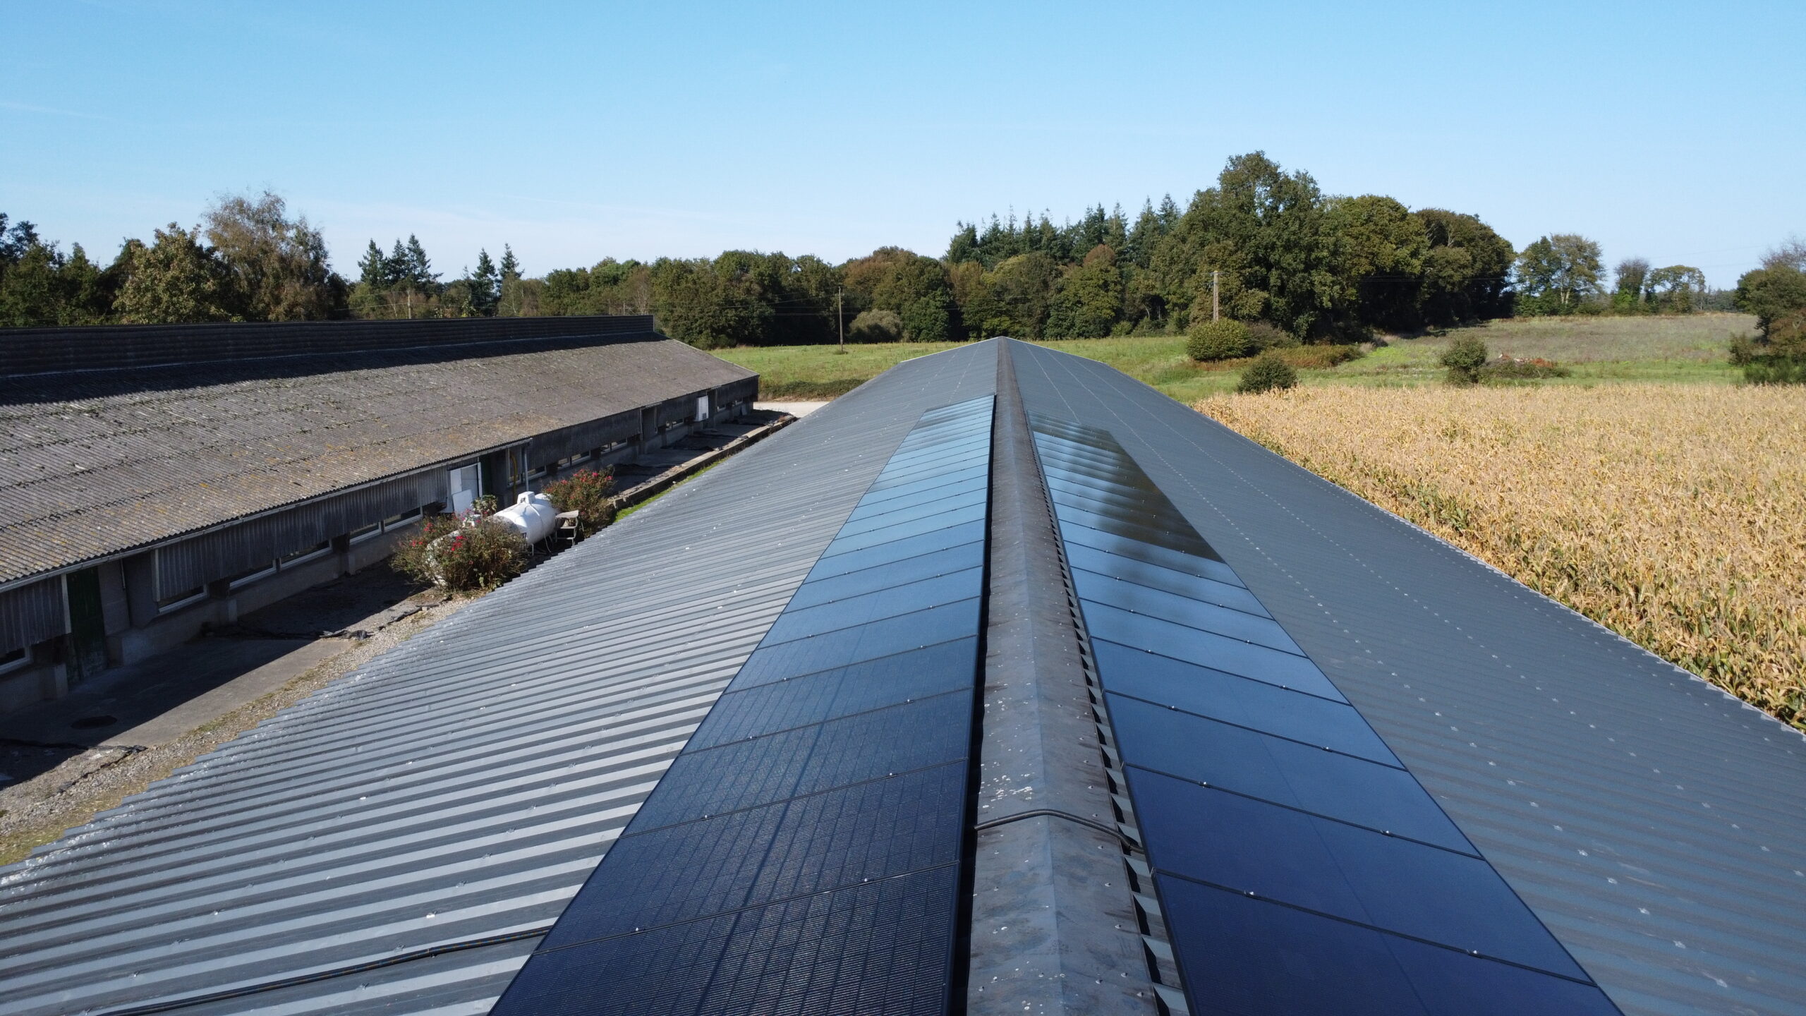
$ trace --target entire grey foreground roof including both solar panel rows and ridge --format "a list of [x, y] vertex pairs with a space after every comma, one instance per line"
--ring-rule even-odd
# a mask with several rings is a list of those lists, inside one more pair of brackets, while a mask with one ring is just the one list
[[1801, 786], [1766, 714], [991, 340], [5, 870], [0, 1009], [1797, 1014]]

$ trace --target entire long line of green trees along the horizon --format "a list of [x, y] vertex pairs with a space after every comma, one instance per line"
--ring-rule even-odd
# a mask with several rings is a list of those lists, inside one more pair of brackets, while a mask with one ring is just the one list
[[701, 347], [1013, 334], [1170, 334], [1215, 315], [1300, 342], [1356, 342], [1542, 313], [1728, 309], [1696, 268], [1627, 259], [1606, 289], [1600, 248], [1555, 233], [1522, 251], [1477, 215], [1385, 195], [1326, 195], [1262, 152], [1228, 159], [1185, 208], [1102, 204], [957, 222], [941, 257], [605, 259], [527, 277], [511, 248], [446, 280], [417, 237], [374, 239], [343, 278], [305, 217], [273, 193], [222, 197], [200, 224], [126, 240], [101, 266], [0, 215], [0, 325], [650, 313]]

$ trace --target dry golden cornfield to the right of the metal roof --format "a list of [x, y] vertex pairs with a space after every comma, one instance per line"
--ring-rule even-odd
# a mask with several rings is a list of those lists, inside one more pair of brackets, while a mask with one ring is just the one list
[[1309, 387], [1197, 409], [1806, 730], [1806, 390]]

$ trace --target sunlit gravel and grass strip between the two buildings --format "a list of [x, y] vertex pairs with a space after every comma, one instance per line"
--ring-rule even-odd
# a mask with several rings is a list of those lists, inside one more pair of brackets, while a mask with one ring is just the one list
[[[278, 710], [356, 671], [379, 653], [394, 649], [464, 609], [473, 600], [444, 600], [439, 593], [423, 593], [410, 602], [419, 604], [421, 609], [370, 633], [347, 653], [320, 663], [282, 689], [182, 738], [150, 748], [88, 748], [31, 779], [5, 785], [0, 788], [0, 864], [25, 859], [34, 848], [88, 823], [98, 812], [116, 808], [154, 781], [219, 748]], [[38, 768], [43, 765], [42, 759], [52, 754], [69, 754], [69, 748], [4, 745], [0, 747], [0, 772], [7, 772], [11, 767]]]

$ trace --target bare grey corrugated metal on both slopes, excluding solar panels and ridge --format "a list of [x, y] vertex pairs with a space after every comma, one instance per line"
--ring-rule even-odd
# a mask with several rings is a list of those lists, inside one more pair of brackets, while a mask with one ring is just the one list
[[[1087, 360], [1107, 430], [1633, 1016], [1806, 1012], [1806, 741]], [[0, 879], [0, 1009], [79, 1012], [544, 927], [921, 409], [910, 362]], [[533, 938], [184, 1012], [484, 1012]]]

